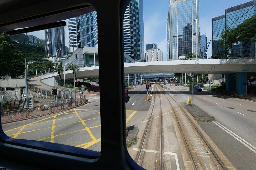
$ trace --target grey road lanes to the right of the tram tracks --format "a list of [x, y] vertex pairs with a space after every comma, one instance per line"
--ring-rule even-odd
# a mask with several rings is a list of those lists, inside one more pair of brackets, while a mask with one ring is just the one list
[[[189, 88], [168, 85], [164, 85], [165, 89], [180, 103], [187, 103], [185, 96], [192, 98]], [[256, 169], [255, 102], [202, 90], [194, 93], [194, 104], [216, 118], [217, 123], [198, 124], [231, 163], [237, 169]]]

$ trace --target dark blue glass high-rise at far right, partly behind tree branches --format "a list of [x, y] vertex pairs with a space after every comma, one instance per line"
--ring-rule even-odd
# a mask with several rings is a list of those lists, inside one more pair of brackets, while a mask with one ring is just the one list
[[[221, 40], [219, 33], [225, 29], [236, 28], [244, 20], [251, 18], [256, 14], [256, 0], [250, 1], [244, 4], [240, 4], [225, 10], [225, 15], [216, 17], [212, 19], [212, 53], [217, 54], [218, 50], [225, 50], [223, 47], [220, 47], [218, 44]], [[218, 36], [217, 36], [218, 35]], [[216, 37], [217, 36], [217, 37]], [[215, 38], [216, 37], [216, 38]], [[256, 57], [256, 44], [253, 41], [245, 40], [233, 44], [232, 49], [229, 50], [229, 54], [232, 57]], [[228, 55], [229, 56], [229, 55]]]

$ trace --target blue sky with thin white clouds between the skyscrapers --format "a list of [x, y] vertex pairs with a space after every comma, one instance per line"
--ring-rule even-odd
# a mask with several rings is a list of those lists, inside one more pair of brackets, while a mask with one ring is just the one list
[[[248, 0], [199, 0], [199, 24], [201, 35], [207, 35], [208, 42], [212, 39], [211, 19], [225, 14], [225, 9], [249, 2]], [[156, 43], [158, 48], [163, 51], [163, 59], [166, 60], [166, 19], [168, 18], [169, 0], [144, 0], [144, 46], [146, 44]], [[67, 22], [67, 21], [66, 21]], [[37, 36], [39, 39], [45, 39], [44, 31], [28, 33]], [[68, 27], [65, 28], [66, 46], [68, 46]], [[212, 53], [212, 44], [210, 44], [207, 54]]]

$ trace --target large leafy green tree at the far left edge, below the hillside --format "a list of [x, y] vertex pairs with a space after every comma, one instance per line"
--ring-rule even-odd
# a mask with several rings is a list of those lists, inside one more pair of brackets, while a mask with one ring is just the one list
[[10, 43], [10, 36], [3, 32], [0, 34], [0, 76], [17, 77], [25, 70], [22, 52], [15, 49]]

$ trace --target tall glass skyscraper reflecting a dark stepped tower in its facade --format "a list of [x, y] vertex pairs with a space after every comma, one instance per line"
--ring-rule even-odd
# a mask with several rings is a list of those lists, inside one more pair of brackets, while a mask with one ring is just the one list
[[199, 0], [170, 0], [166, 23], [167, 59], [200, 55]]

